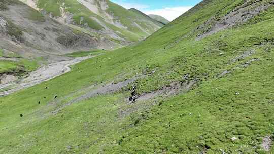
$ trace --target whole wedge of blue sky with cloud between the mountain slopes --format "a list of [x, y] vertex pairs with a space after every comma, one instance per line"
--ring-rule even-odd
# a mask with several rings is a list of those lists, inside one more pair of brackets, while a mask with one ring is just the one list
[[157, 14], [172, 21], [201, 0], [111, 0], [126, 9], [135, 8], [146, 14]]

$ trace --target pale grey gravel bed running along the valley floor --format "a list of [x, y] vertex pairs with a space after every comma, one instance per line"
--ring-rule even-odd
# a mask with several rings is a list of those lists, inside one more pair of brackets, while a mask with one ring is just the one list
[[23, 78], [15, 82], [0, 85], [0, 90], [9, 89], [7, 91], [0, 92], [0, 97], [14, 93], [21, 89], [25, 89], [40, 84], [41, 82], [56, 78], [57, 76], [60, 76], [64, 73], [71, 71], [70, 65], [77, 64], [83, 60], [92, 57], [95, 56], [79, 57], [71, 60], [65, 60], [45, 65], [37, 69], [36, 71], [31, 72], [27, 78]]

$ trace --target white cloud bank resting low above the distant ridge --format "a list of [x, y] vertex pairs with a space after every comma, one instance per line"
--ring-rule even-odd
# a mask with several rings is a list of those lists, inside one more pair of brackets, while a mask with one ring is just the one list
[[172, 7], [172, 8], [163, 8], [163, 9], [155, 9], [155, 10], [145, 10], [143, 11], [146, 14], [156, 14], [166, 18], [169, 21], [176, 19], [181, 16], [183, 13], [187, 12], [192, 6], [180, 6], [180, 7]]

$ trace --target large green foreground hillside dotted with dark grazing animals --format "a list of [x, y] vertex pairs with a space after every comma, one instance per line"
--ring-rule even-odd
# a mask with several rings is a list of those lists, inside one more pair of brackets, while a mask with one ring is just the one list
[[137, 45], [0, 98], [0, 152], [274, 153], [273, 29], [273, 1], [202, 1]]

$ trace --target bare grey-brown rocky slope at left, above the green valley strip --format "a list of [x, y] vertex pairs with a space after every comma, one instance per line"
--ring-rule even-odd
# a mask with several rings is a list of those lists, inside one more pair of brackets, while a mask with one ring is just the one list
[[3, 2], [0, 47], [7, 51], [31, 57], [115, 45], [62, 25], [19, 1]]

